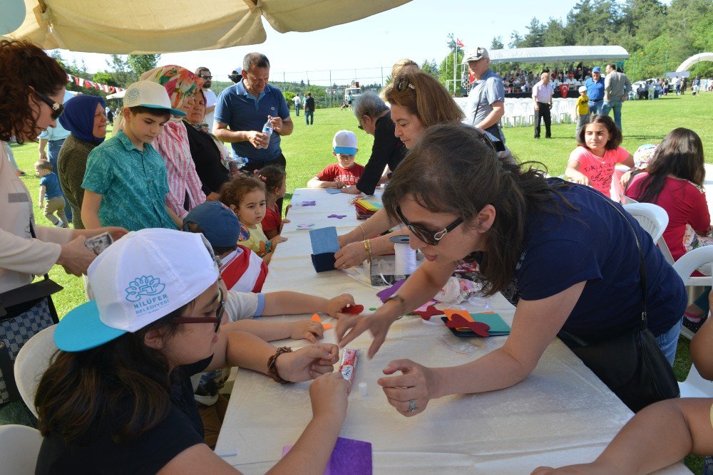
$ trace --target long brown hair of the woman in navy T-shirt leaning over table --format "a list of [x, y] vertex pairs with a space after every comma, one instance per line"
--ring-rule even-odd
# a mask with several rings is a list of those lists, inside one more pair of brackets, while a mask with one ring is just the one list
[[571, 207], [559, 191], [568, 184], [548, 183], [545, 172], [532, 165], [543, 167], [499, 160], [492, 143], [473, 127], [434, 125], [394, 172], [384, 192], [384, 208], [398, 221], [396, 206], [412, 197], [430, 212], [454, 214], [463, 219], [463, 226], [476, 228], [478, 213], [491, 204], [496, 217], [484, 235], [486, 251], [480, 268], [483, 292], [493, 295], [512, 281], [523, 250], [528, 210], [561, 215], [555, 195]]

